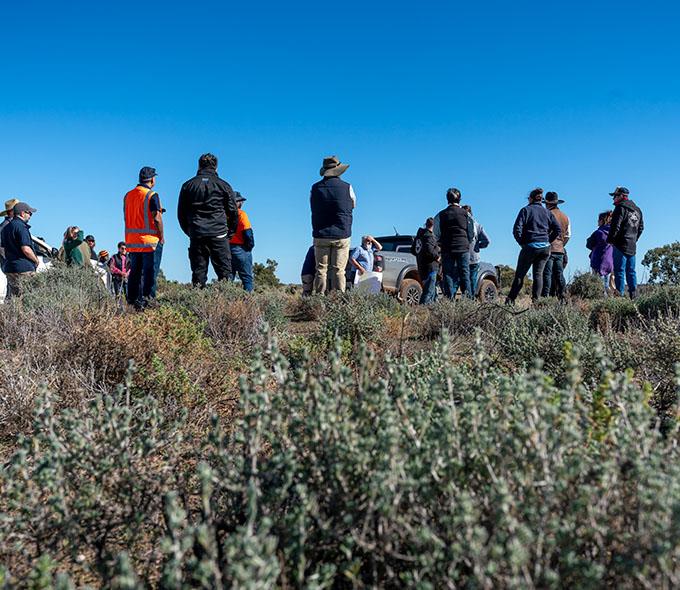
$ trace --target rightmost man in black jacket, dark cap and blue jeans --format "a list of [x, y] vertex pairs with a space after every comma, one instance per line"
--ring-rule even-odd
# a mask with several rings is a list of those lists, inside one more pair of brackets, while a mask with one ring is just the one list
[[613, 193], [614, 213], [609, 227], [607, 242], [612, 244], [614, 260], [614, 282], [616, 289], [624, 295], [624, 278], [628, 283], [630, 298], [635, 297], [637, 290], [637, 274], [635, 272], [635, 252], [638, 238], [645, 229], [642, 211], [628, 198], [630, 191], [624, 186], [617, 186]]

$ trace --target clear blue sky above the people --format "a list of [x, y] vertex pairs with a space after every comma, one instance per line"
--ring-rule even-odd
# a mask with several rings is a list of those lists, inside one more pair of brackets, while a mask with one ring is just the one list
[[[163, 269], [190, 279], [177, 195], [201, 153], [248, 198], [256, 261], [299, 281], [309, 188], [337, 155], [364, 233], [415, 233], [448, 187], [515, 265], [528, 192], [572, 219], [570, 266], [617, 185], [647, 249], [680, 238], [680, 7], [672, 2], [4, 3], [0, 200], [115, 251], [121, 202], [158, 170]], [[638, 266], [638, 271], [642, 268]]]

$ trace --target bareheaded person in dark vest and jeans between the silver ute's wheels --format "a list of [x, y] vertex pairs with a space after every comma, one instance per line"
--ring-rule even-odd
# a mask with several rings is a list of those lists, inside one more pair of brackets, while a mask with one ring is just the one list
[[460, 206], [460, 191], [450, 188], [446, 192], [449, 206], [434, 218], [434, 237], [441, 247], [444, 293], [451, 299], [460, 290], [470, 299], [474, 298], [470, 285], [470, 241], [475, 236], [472, 217]]

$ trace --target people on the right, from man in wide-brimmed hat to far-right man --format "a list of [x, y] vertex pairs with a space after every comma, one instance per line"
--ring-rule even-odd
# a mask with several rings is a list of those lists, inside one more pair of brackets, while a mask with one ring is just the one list
[[[363, 236], [361, 246], [349, 257], [356, 195], [352, 186], [340, 179], [348, 167], [335, 156], [324, 158], [320, 170], [323, 178], [312, 186], [314, 245], [302, 268], [303, 294], [344, 291], [348, 258], [356, 272], [363, 274], [372, 270], [373, 252], [381, 249], [371, 236]], [[600, 215], [599, 228], [586, 243], [591, 250], [591, 269], [602, 277], [605, 295], [613, 276], [616, 291], [623, 295], [627, 283], [633, 298], [637, 291], [636, 244], [644, 230], [642, 212], [629, 198], [627, 188], [617, 187], [610, 195], [614, 210]], [[480, 250], [490, 243], [483, 226], [473, 218], [471, 207], [461, 205], [460, 191], [448, 189], [446, 199], [448, 206], [418, 229], [411, 249], [422, 282], [422, 304], [436, 299], [438, 283], [451, 299], [459, 288], [473, 299]], [[519, 211], [512, 233], [521, 250], [506, 303], [515, 302], [529, 269], [533, 271], [532, 300], [549, 295], [564, 299], [565, 246], [571, 237], [571, 221], [560, 210], [562, 203], [556, 192], [548, 191], [544, 197], [543, 189], [537, 188], [531, 191], [529, 204]]]

